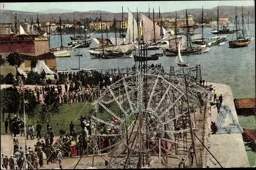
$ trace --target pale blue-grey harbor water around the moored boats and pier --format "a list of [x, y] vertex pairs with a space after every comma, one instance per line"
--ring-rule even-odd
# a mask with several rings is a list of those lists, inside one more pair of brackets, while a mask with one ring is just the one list
[[[210, 31], [214, 28], [205, 28], [204, 37], [210, 38], [213, 35]], [[232, 30], [233, 28], [228, 28]], [[255, 25], [249, 25], [252, 37], [255, 37]], [[195, 33], [201, 33], [201, 29], [197, 29]], [[63, 35], [63, 45], [71, 42], [70, 36]], [[114, 37], [114, 33], [109, 33], [109, 37]], [[117, 33], [119, 36], [119, 33]], [[200, 36], [200, 35], [199, 35]], [[222, 36], [222, 35], [220, 35]], [[227, 40], [236, 38], [236, 34], [228, 35]], [[92, 37], [101, 38], [101, 34], [94, 34]], [[197, 35], [198, 37], [198, 35]], [[106, 34], [103, 34], [106, 38]], [[193, 37], [192, 37], [193, 39]], [[190, 67], [195, 67], [197, 64], [201, 65], [202, 78], [207, 82], [216, 82], [227, 84], [231, 87], [233, 98], [255, 98], [255, 40], [251, 40], [248, 47], [243, 48], [229, 48], [228, 41], [222, 46], [212, 46], [210, 51], [201, 55], [183, 56], [184, 62], [188, 62]], [[50, 37], [50, 46], [60, 46], [60, 36]], [[92, 42], [90, 47], [96, 46]], [[135, 65], [134, 58], [126, 59], [91, 59], [87, 48], [80, 48], [80, 68], [90, 69], [106, 69], [106, 68], [127, 68]], [[162, 53], [162, 50], [148, 51], [148, 54]], [[65, 70], [71, 68], [78, 68], [78, 49], [72, 53], [71, 57], [56, 58], [58, 70]], [[148, 61], [148, 64], [161, 64], [164, 70], [169, 73], [170, 65], [174, 66], [175, 70], [180, 69], [176, 62], [176, 57], [159, 57], [157, 61]], [[209, 84], [207, 84], [209, 85]], [[220, 94], [218, 94], [220, 95]], [[224, 99], [225, 100], [225, 99]], [[255, 116], [238, 116], [241, 126], [245, 129], [255, 129]], [[246, 147], [246, 149], [249, 149]], [[255, 152], [247, 151], [249, 163], [251, 166], [255, 165]]]

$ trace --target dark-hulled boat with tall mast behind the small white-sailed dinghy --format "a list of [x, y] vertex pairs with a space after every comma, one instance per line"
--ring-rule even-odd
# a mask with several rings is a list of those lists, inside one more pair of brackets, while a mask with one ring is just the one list
[[[187, 10], [186, 10], [186, 18], [187, 18]], [[188, 20], [187, 20], [187, 26], [188, 26]], [[192, 47], [191, 46], [191, 43], [190, 43], [191, 41], [190, 41], [190, 38], [189, 38], [189, 28], [188, 27], [187, 27], [187, 32], [186, 32], [186, 39], [187, 39], [187, 47], [184, 50], [181, 50], [181, 55], [201, 54], [201, 53], [204, 53], [204, 52], [208, 52], [210, 50], [210, 45], [207, 45], [207, 44], [205, 44], [201, 47]], [[178, 49], [177, 49], [177, 47], [176, 48], [165, 48], [164, 49], [164, 54], [165, 54], [165, 56], [177, 56], [178, 55]]]

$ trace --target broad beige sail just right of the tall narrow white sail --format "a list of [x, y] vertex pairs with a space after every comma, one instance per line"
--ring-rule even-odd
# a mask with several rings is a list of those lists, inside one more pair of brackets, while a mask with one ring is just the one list
[[[141, 19], [142, 19], [142, 30], [143, 30], [144, 41], [154, 40], [154, 22], [143, 14], [141, 14]], [[162, 38], [162, 36], [160, 36], [160, 30], [161, 28], [155, 23], [156, 39]]]

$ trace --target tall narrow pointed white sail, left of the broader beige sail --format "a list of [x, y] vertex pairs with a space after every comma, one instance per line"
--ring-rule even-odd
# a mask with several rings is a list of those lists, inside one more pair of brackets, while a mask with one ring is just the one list
[[138, 38], [137, 20], [133, 16], [132, 12], [128, 9], [127, 32], [126, 32], [125, 39], [127, 43], [131, 43], [131, 41], [133, 42], [136, 41], [137, 38]]

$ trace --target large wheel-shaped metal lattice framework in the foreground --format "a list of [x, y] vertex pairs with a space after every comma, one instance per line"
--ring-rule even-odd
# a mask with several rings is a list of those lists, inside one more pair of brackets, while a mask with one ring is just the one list
[[[92, 116], [96, 122], [92, 133], [96, 153], [110, 152], [108, 166], [112, 168], [134, 168], [142, 159], [143, 166], [152, 167], [160, 158], [159, 151], [181, 159], [172, 147], [159, 143], [167, 141], [189, 148], [175, 136], [190, 129], [176, 130], [175, 123], [190, 106], [202, 105], [208, 91], [193, 79], [187, 79], [186, 84], [189, 108], [185, 111], [184, 76], [165, 76], [161, 68], [148, 70], [148, 74], [139, 72], [108, 86]], [[113, 116], [115, 121], [111, 120]], [[164, 159], [162, 163], [167, 167]]]

